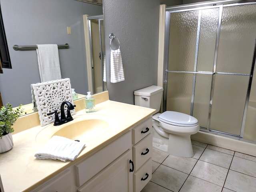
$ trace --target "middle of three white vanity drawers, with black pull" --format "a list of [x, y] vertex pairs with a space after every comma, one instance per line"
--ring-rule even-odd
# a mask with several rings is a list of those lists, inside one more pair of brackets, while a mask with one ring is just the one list
[[152, 156], [152, 133], [133, 146], [133, 162], [135, 171]]

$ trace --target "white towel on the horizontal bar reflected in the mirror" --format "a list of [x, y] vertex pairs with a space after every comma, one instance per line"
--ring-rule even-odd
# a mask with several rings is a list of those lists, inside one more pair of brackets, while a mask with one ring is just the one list
[[41, 82], [61, 79], [57, 44], [37, 45], [36, 53]]

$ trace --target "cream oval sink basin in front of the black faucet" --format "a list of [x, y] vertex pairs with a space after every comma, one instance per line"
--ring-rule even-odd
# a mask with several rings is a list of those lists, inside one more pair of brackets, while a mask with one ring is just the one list
[[109, 131], [109, 123], [106, 116], [83, 115], [74, 117], [73, 121], [60, 126], [50, 124], [40, 130], [36, 135], [36, 142], [45, 143], [52, 136], [62, 136], [82, 142], [93, 140]]

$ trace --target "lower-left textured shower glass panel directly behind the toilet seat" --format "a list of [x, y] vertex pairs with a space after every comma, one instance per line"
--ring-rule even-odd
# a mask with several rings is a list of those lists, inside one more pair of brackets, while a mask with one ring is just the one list
[[167, 106], [168, 111], [190, 115], [193, 74], [168, 73]]

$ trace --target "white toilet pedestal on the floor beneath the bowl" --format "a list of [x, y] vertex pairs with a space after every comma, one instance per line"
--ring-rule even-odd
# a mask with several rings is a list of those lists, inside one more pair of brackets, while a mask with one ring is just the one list
[[194, 156], [190, 135], [169, 134], [167, 152], [179, 157]]

